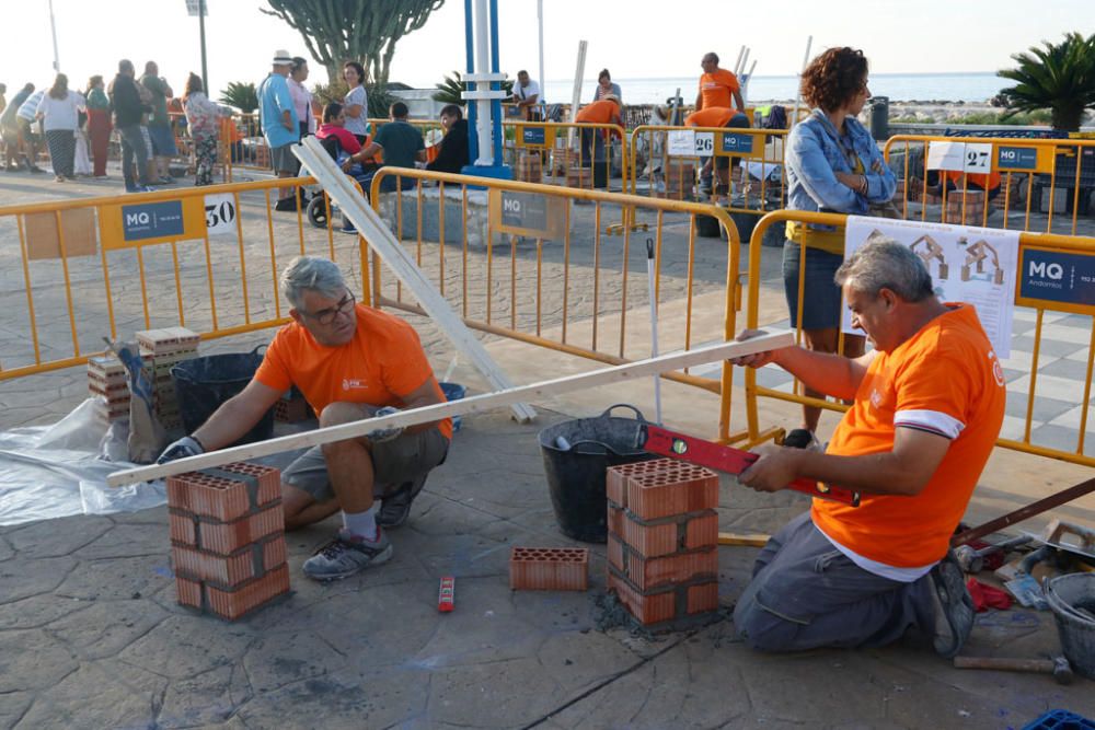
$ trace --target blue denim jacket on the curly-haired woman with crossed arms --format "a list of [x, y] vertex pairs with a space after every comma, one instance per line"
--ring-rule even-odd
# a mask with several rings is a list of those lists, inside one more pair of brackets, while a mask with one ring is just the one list
[[[791, 131], [786, 154], [787, 208], [863, 215], [869, 204], [894, 197], [897, 179], [886, 165], [871, 134], [856, 119], [844, 120], [848, 137], [841, 140], [835, 127], [820, 109]], [[837, 181], [834, 173], [855, 173], [845, 155], [845, 144], [863, 163], [867, 195], [863, 196]]]

